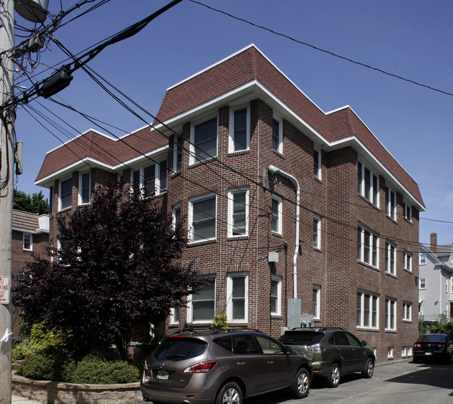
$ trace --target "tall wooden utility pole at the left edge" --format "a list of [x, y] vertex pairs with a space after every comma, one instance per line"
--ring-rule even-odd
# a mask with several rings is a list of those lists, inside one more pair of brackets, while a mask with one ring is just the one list
[[[0, 0], [0, 52], [14, 46], [14, 1]], [[9, 104], [14, 95], [14, 63], [1, 55], [1, 105]], [[14, 181], [14, 106], [0, 109], [0, 279], [11, 279], [11, 237]], [[11, 282], [9, 282], [10, 287]], [[0, 302], [1, 303], [1, 302]], [[0, 304], [0, 404], [11, 404], [11, 336], [13, 332], [11, 302]]]

